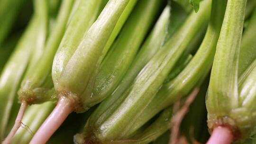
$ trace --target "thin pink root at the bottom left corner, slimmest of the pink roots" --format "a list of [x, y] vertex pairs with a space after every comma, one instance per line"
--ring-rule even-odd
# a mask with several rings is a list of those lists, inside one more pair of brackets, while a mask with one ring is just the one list
[[20, 108], [18, 110], [18, 115], [16, 117], [15, 124], [2, 144], [10, 144], [12, 137], [16, 134], [16, 132], [18, 131], [18, 128], [21, 125], [21, 120], [22, 120], [22, 117], [24, 116], [26, 108], [27, 108], [27, 102], [22, 101]]

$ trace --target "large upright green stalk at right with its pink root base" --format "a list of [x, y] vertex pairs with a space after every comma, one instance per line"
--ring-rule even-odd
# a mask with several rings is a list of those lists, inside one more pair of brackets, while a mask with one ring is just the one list
[[[255, 126], [253, 64], [240, 78], [238, 75], [238, 65], [247, 62], [245, 55], [239, 57], [246, 4], [247, 0], [228, 0], [206, 99], [208, 127], [212, 131], [208, 144], [243, 140]], [[241, 48], [241, 54], [247, 49]]]

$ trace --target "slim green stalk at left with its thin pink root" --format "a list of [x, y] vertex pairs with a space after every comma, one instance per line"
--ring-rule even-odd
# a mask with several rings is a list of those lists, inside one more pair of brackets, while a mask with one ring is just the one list
[[[45, 5], [45, 11], [46, 11], [47, 4], [46, 2], [43, 4]], [[51, 66], [51, 64], [49, 64], [51, 63], [49, 62], [50, 61], [49, 59], [51, 59], [51, 57], [54, 56], [54, 51], [56, 49], [55, 47], [59, 45], [59, 41], [61, 40], [62, 33], [65, 29], [65, 23], [68, 19], [69, 11], [72, 8], [72, 4], [73, 4], [72, 0], [64, 1], [62, 9], [60, 10], [61, 14], [59, 15], [59, 18], [57, 18], [57, 24], [56, 24], [57, 28], [53, 33], [51, 33], [49, 41], [46, 43], [46, 37], [45, 38], [41, 37], [39, 39], [41, 44], [39, 44], [39, 46], [37, 46], [37, 49], [34, 50], [33, 56], [31, 57], [31, 61], [27, 67], [27, 71], [25, 73], [24, 79], [21, 83], [21, 90], [19, 90], [19, 101], [21, 102], [21, 106], [18, 112], [16, 122], [13, 126], [13, 129], [10, 131], [9, 135], [14, 135], [15, 132], [18, 130], [22, 117], [24, 115], [25, 109], [28, 104], [31, 104], [34, 101], [36, 101], [37, 103], [42, 102], [43, 100], [46, 101], [43, 96], [49, 94], [48, 92], [49, 90], [47, 90], [47, 85], [49, 85], [48, 83], [50, 83], [50, 88], [52, 88], [51, 86], [53, 86], [53, 84], [51, 84], [51, 79], [50, 81], [47, 81], [50, 78], [48, 76], [49, 75], [48, 73], [50, 71], [45, 72], [45, 70], [47, 69], [47, 67]], [[48, 17], [47, 17], [48, 12], [46, 11], [45, 14], [46, 14], [46, 19], [48, 20]], [[38, 32], [42, 33], [44, 31], [39, 30]], [[46, 43], [46, 47], [45, 47], [45, 43]], [[45, 61], [41, 61], [40, 60], [41, 58], [44, 59]], [[40, 87], [40, 85], [44, 85], [45, 87], [42, 88]]]

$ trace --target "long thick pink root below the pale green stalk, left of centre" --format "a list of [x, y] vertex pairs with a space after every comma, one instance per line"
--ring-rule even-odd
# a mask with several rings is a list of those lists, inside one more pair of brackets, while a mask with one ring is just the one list
[[37, 130], [29, 144], [45, 144], [72, 111], [72, 102], [61, 97], [57, 106]]

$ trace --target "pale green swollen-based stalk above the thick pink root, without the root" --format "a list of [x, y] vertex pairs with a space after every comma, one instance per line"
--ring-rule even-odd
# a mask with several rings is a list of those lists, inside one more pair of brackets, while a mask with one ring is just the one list
[[[91, 97], [92, 86], [88, 83], [95, 81], [104, 46], [128, 2], [129, 0], [110, 0], [99, 18], [86, 32], [77, 49], [70, 55], [65, 67], [61, 67], [58, 71], [53, 69], [52, 75], [57, 78], [54, 79], [55, 90], [60, 97], [66, 95], [69, 99], [73, 99], [76, 103], [74, 110], [77, 112], [88, 109], [88, 106], [83, 104], [86, 103], [86, 97]], [[65, 56], [60, 55], [60, 57]], [[57, 59], [58, 55], [55, 57], [56, 63]], [[60, 74], [59, 77], [56, 77], [56, 73]]]

